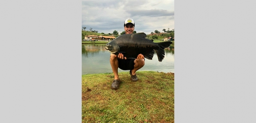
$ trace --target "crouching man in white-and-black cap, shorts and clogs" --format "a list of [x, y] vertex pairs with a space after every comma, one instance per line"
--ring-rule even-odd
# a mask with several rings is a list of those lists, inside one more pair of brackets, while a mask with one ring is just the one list
[[[133, 19], [126, 19], [124, 22], [125, 34], [133, 34], [134, 26], [135, 23]], [[136, 71], [144, 66], [145, 59], [142, 54], [138, 54], [137, 59], [126, 59], [126, 57], [123, 57], [122, 53], [119, 53], [118, 56], [111, 53], [110, 64], [114, 73], [114, 81], [111, 84], [111, 89], [118, 89], [120, 84], [118, 68], [122, 70], [130, 70], [131, 80], [137, 81]]]

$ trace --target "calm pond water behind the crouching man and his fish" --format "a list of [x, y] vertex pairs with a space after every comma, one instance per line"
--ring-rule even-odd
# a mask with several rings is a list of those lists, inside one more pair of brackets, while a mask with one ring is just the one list
[[[82, 44], [82, 75], [93, 73], [112, 73], [109, 62], [110, 52], [105, 49], [106, 44]], [[174, 45], [164, 49], [162, 62], [158, 61], [156, 53], [152, 60], [145, 58], [145, 65], [138, 71], [156, 71], [174, 73]], [[118, 69], [118, 72], [129, 72]]]

